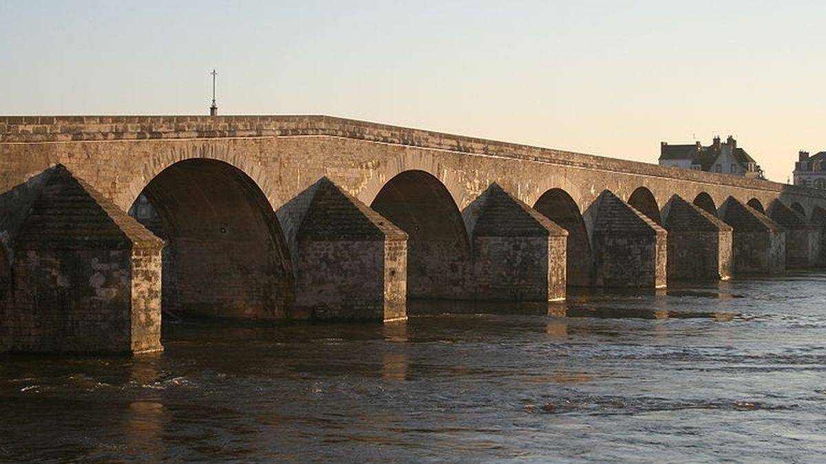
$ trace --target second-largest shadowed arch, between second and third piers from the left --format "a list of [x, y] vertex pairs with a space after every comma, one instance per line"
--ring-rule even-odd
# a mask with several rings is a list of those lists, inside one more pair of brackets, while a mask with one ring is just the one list
[[387, 181], [370, 205], [407, 235], [407, 295], [464, 295], [470, 244], [447, 187], [432, 174], [405, 171]]

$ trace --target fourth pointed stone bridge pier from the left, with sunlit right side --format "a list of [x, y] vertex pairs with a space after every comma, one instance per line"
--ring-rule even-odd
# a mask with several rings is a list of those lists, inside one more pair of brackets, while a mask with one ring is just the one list
[[591, 208], [596, 286], [666, 286], [666, 230], [607, 190]]

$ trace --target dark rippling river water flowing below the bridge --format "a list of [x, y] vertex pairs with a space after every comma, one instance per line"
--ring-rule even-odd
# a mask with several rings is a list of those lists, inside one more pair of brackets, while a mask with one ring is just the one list
[[822, 462], [826, 273], [0, 357], [0, 460]]

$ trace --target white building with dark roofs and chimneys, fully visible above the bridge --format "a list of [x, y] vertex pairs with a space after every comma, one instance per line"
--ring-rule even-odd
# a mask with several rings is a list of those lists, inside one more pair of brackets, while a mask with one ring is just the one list
[[667, 142], [661, 142], [659, 162], [665, 166], [696, 171], [764, 178], [757, 161], [749, 156], [746, 150], [738, 148], [737, 140], [731, 135], [724, 143], [720, 142], [719, 137], [714, 137], [712, 144], [707, 147], [700, 142], [687, 145], [669, 145]]

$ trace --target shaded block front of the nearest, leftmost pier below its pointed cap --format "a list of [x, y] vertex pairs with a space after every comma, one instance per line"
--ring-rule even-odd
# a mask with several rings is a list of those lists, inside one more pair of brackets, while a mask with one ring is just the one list
[[131, 351], [131, 252], [20, 250], [2, 351]]

